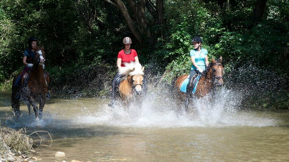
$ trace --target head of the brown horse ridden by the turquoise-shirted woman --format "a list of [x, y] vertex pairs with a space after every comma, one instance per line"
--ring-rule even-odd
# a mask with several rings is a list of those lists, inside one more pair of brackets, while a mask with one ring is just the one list
[[222, 56], [215, 60], [212, 58], [212, 70], [213, 70], [213, 76], [215, 79], [218, 80], [217, 85], [218, 86], [223, 86], [224, 81], [223, 81], [223, 64], [222, 64], [223, 58]]

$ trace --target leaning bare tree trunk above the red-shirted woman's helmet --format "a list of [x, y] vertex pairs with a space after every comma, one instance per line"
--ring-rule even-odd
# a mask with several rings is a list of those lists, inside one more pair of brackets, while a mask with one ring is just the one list
[[124, 19], [126, 20], [126, 24], [129, 26], [131, 32], [134, 34], [134, 37], [137, 39], [137, 41], [142, 42], [141, 35], [137, 32], [135, 29], [135, 23], [131, 19], [130, 14], [128, 13], [126, 6], [123, 4], [121, 0], [115, 0], [115, 4], [123, 14]]

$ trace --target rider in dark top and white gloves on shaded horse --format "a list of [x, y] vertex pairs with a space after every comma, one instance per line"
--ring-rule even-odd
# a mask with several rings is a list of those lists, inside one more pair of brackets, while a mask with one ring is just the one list
[[[24, 57], [23, 57], [23, 65], [25, 65], [21, 75], [20, 75], [20, 79], [17, 79], [15, 85], [19, 84], [19, 82], [21, 83], [21, 79], [24, 76], [24, 74], [26, 72], [28, 72], [33, 64], [34, 64], [34, 56], [35, 56], [35, 48], [37, 47], [37, 38], [36, 37], [29, 37], [28, 38], [28, 48], [24, 51]], [[43, 69], [44, 69], [44, 65], [43, 65]], [[47, 72], [44, 72], [47, 73]], [[48, 73], [47, 73], [48, 74]], [[20, 81], [19, 81], [20, 80]], [[19, 98], [19, 93], [16, 94], [16, 98]], [[50, 98], [50, 92], [47, 92], [47, 96], [48, 99]]]

